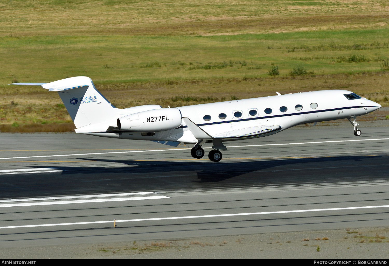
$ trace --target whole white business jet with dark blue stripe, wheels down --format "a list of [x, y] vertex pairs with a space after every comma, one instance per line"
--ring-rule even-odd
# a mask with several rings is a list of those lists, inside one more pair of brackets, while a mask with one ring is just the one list
[[89, 77], [71, 77], [38, 85], [58, 91], [76, 126], [75, 132], [108, 138], [152, 140], [177, 147], [194, 144], [191, 155], [204, 156], [202, 145], [212, 142], [208, 158], [218, 162], [223, 142], [266, 137], [292, 126], [347, 118], [354, 135], [361, 130], [356, 117], [381, 107], [351, 91], [327, 90], [231, 100], [219, 103], [162, 108], [142, 105], [119, 109], [99, 91]]

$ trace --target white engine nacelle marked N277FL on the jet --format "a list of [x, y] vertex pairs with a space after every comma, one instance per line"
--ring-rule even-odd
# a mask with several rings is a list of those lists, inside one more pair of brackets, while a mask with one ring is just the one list
[[181, 112], [177, 108], [161, 108], [126, 115], [117, 119], [119, 130], [134, 132], [164, 131], [181, 125]]

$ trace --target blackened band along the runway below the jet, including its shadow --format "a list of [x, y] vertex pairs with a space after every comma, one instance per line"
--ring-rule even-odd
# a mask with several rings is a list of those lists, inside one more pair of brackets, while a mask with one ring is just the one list
[[[117, 166], [55, 166], [63, 172], [1, 175], [0, 198], [386, 180], [388, 157], [337, 156], [223, 163], [79, 158]], [[53, 166], [33, 168], [53, 169]]]

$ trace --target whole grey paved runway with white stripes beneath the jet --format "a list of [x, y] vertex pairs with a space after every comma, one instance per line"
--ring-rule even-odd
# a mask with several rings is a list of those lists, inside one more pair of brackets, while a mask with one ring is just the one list
[[184, 145], [1, 133], [0, 247], [387, 226], [389, 128], [361, 129], [226, 142], [219, 163]]

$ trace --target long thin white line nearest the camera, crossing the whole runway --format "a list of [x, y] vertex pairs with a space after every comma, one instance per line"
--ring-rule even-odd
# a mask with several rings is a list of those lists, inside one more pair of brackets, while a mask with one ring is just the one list
[[[296, 212], [321, 212], [321, 211], [336, 211], [336, 210], [357, 210], [357, 209], [370, 209], [370, 208], [388, 208], [389, 205], [380, 206], [361, 206], [361, 207], [345, 207], [345, 208], [324, 208], [324, 209], [311, 209], [311, 210], [289, 210], [278, 212], [249, 212], [241, 214], [214, 214], [214, 215], [194, 215], [194, 216], [179, 216], [179, 217], [161, 217], [161, 218], [146, 218], [146, 219], [130, 219], [130, 220], [116, 220], [119, 222], [142, 222], [142, 221], [158, 221], [158, 220], [176, 220], [176, 219], [194, 219], [194, 218], [208, 218], [208, 217], [228, 217], [228, 216], [244, 216], [244, 215], [264, 215], [264, 214], [286, 214]], [[0, 226], [0, 229], [7, 228], [27, 228], [27, 227], [43, 227], [43, 226], [66, 226], [77, 224], [105, 224], [113, 223], [114, 221], [95, 221], [95, 222], [68, 222], [61, 224], [32, 224], [24, 226]]]

